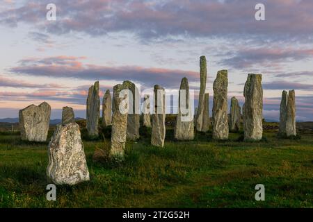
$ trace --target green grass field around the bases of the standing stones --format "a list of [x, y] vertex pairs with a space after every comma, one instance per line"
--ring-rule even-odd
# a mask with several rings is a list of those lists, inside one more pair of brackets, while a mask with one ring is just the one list
[[[142, 128], [120, 165], [93, 162], [104, 142], [84, 141], [90, 182], [58, 186], [57, 200], [47, 201], [47, 143], [0, 133], [0, 207], [313, 207], [312, 132], [278, 139], [267, 130], [262, 142], [242, 142], [241, 133], [175, 142], [172, 134], [154, 148]], [[259, 183], [265, 201], [255, 200]]]

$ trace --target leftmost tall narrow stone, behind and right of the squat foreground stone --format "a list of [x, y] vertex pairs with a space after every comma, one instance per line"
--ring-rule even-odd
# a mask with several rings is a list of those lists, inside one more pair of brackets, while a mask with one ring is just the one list
[[87, 98], [87, 130], [90, 137], [98, 137], [100, 117], [99, 81], [95, 82], [88, 91]]

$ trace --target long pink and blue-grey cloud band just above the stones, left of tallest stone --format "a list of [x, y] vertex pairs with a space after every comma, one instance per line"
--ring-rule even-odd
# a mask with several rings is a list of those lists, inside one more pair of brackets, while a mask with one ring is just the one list
[[81, 57], [57, 56], [51, 58], [28, 58], [10, 69], [12, 74], [47, 76], [52, 78], [79, 78], [83, 80], [132, 80], [148, 87], [179, 87], [182, 78], [194, 81], [198, 72], [178, 69], [145, 68], [139, 66], [109, 67], [83, 64]]

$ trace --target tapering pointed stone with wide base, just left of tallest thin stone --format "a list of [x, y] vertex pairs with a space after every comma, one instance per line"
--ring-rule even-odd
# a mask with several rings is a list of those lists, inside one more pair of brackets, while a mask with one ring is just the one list
[[193, 139], [193, 113], [189, 98], [188, 79], [183, 78], [179, 89], [178, 114], [175, 126], [175, 139]]

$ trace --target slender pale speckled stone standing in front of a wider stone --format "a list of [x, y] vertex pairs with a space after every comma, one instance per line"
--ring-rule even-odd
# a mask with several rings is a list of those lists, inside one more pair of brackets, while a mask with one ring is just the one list
[[123, 157], [125, 153], [128, 115], [128, 87], [118, 84], [113, 87], [113, 118], [111, 151], [113, 157]]

